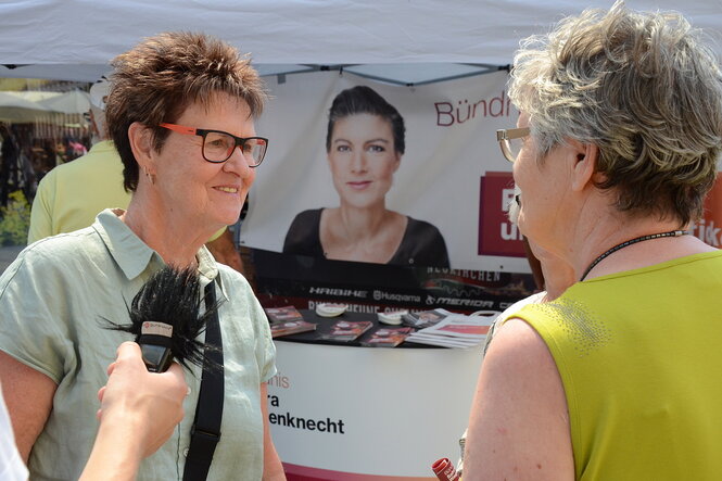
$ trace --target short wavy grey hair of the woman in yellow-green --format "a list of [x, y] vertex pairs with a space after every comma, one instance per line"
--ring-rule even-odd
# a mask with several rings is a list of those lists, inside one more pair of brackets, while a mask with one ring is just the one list
[[686, 226], [697, 219], [722, 150], [722, 73], [677, 13], [617, 2], [522, 40], [509, 98], [530, 115], [540, 162], [565, 139], [599, 148], [615, 206]]

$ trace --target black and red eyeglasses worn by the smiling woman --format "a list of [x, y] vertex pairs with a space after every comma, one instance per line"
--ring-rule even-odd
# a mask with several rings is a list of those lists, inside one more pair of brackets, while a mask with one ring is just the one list
[[240, 145], [249, 167], [257, 167], [268, 149], [268, 139], [265, 137], [236, 137], [223, 130], [206, 130], [176, 124], [164, 123], [159, 126], [185, 136], [203, 137], [203, 159], [213, 164], [226, 162]]

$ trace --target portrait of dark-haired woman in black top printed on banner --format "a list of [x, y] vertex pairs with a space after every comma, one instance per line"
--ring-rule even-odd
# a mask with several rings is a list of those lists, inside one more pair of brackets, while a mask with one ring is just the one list
[[283, 253], [375, 264], [448, 267], [431, 224], [387, 208], [405, 150], [404, 118], [373, 89], [341, 91], [329, 111], [326, 151], [338, 207], [308, 210], [291, 223]]

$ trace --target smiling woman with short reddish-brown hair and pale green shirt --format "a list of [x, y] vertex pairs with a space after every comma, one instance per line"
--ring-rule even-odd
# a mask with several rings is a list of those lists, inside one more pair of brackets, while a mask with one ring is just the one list
[[[219, 302], [225, 402], [207, 479], [283, 478], [266, 415], [276, 372], [266, 316], [246, 280], [203, 246], [236, 221], [264, 159], [268, 140], [254, 128], [262, 81], [235, 48], [193, 34], [149, 38], [113, 66], [106, 122], [128, 208], [33, 244], [0, 278], [0, 378], [20, 452], [34, 480], [78, 478], [96, 392], [129, 337], [107, 321], [127, 324], [136, 293], [170, 265], [194, 269]], [[186, 416], [139, 479], [183, 476], [201, 374], [187, 374]]]

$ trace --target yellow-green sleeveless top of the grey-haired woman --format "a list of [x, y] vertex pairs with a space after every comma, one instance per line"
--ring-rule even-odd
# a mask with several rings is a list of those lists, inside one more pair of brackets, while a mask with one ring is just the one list
[[578, 480], [722, 480], [722, 251], [578, 282], [515, 317], [559, 369]]

